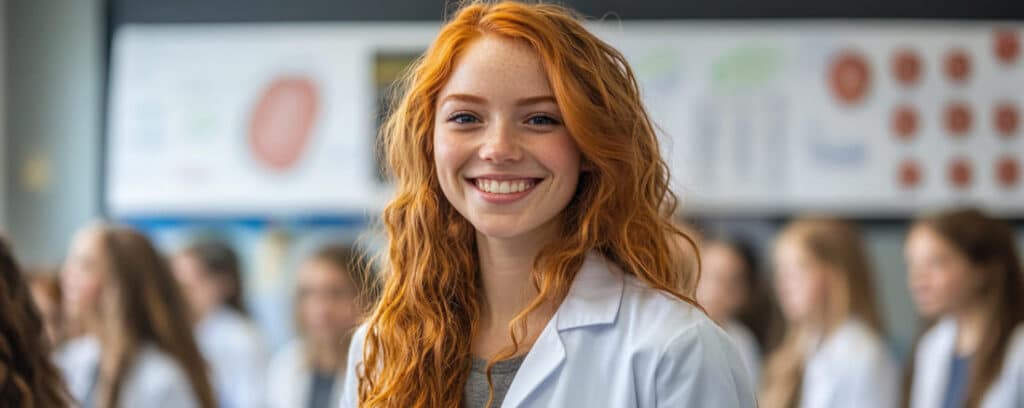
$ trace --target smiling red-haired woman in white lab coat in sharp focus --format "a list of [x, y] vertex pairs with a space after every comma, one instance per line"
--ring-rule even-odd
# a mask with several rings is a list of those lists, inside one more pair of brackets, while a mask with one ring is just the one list
[[471, 3], [383, 129], [381, 299], [344, 407], [753, 407], [679, 292], [675, 198], [623, 55], [556, 5]]

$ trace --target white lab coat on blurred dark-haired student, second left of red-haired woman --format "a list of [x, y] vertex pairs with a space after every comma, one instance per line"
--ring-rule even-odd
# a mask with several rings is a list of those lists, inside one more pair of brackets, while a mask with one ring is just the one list
[[262, 406], [267, 354], [256, 328], [226, 307], [196, 326], [196, 342], [210, 367], [218, 407]]

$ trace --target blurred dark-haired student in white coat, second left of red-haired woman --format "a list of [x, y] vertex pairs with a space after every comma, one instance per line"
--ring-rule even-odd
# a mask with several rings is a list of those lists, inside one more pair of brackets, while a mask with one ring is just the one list
[[196, 341], [222, 408], [262, 404], [267, 355], [248, 318], [239, 257], [219, 241], [201, 241], [172, 259], [174, 277], [191, 310]]

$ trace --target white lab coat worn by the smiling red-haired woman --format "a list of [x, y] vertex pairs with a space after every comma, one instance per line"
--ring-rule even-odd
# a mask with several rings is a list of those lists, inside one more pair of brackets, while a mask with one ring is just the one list
[[[342, 407], [357, 401], [352, 338]], [[523, 360], [502, 407], [754, 407], [725, 332], [693, 305], [591, 253]]]

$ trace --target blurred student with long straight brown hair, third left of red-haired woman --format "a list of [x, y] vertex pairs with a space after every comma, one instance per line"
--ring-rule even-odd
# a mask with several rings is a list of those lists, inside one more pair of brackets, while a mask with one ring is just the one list
[[85, 334], [59, 365], [83, 407], [213, 408], [206, 364], [165, 259], [142, 234], [79, 231], [61, 273], [69, 319]]

